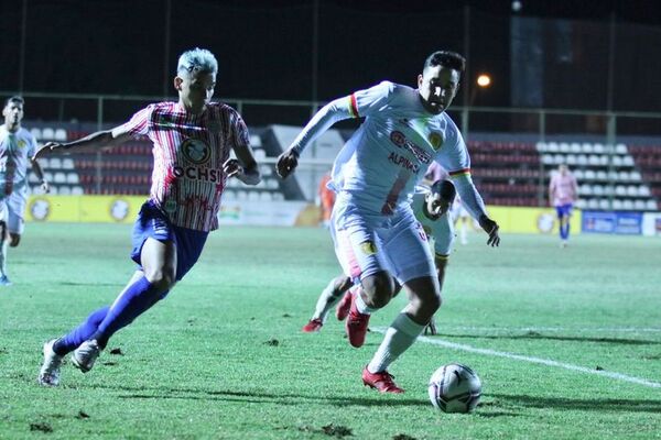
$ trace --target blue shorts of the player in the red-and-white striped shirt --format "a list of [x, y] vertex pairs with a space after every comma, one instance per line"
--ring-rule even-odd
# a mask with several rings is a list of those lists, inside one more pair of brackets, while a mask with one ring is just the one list
[[159, 208], [151, 201], [147, 201], [140, 208], [138, 220], [133, 226], [131, 260], [141, 265], [140, 253], [149, 238], [161, 242], [172, 241], [176, 246], [176, 280], [178, 282], [197, 263], [208, 234], [206, 231], [173, 226]]

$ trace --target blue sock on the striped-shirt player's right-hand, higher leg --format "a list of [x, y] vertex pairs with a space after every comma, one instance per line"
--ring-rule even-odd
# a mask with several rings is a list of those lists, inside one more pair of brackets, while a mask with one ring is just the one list
[[164, 298], [165, 294], [159, 293], [144, 276], [140, 277], [115, 300], [115, 305], [89, 339], [96, 339], [99, 345], [105, 348], [112, 334]]

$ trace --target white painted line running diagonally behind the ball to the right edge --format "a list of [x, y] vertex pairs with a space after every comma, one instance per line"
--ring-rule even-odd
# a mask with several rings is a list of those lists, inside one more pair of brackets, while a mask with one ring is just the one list
[[[386, 332], [386, 329], [383, 329], [383, 328], [375, 328], [372, 330], [377, 331], [379, 333]], [[496, 351], [496, 350], [491, 350], [491, 349], [478, 349], [478, 348], [472, 346], [472, 345], [458, 344], [458, 343], [444, 341], [441, 339], [432, 339], [432, 338], [427, 338], [427, 337], [420, 337], [420, 338], [418, 338], [418, 340], [422, 341], [422, 342], [431, 343], [434, 345], [441, 345], [441, 346], [445, 346], [448, 349], [467, 351], [470, 353], [485, 354], [488, 356], [514, 359], [517, 361], [530, 362], [533, 364], [556, 366], [560, 369], [577, 371], [581, 373], [588, 373], [588, 374], [595, 374], [597, 376], [610, 377], [610, 378], [615, 378], [617, 381], [630, 382], [630, 383], [638, 384], [638, 385], [649, 386], [651, 388], [661, 388], [661, 383], [659, 383], [659, 382], [648, 381], [648, 380], [640, 378], [640, 377], [628, 376], [628, 375], [621, 374], [621, 373], [607, 372], [604, 370], [594, 370], [594, 369], [588, 369], [585, 366], [566, 364], [564, 362], [557, 362], [557, 361], [553, 361], [550, 359], [524, 356], [521, 354], [508, 353], [506, 351]]]

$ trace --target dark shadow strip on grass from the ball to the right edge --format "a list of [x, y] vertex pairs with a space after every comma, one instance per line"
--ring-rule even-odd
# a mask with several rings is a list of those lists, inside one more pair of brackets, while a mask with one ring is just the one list
[[490, 393], [489, 397], [494, 397], [497, 400], [510, 405], [529, 408], [661, 414], [661, 400], [659, 399], [575, 399], [567, 397], [538, 397]]

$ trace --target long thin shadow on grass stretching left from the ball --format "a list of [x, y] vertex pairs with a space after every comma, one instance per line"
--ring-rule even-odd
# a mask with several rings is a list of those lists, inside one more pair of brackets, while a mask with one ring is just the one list
[[[362, 396], [319, 396], [314, 394], [274, 394], [261, 391], [232, 392], [232, 391], [205, 391], [195, 388], [156, 388], [90, 385], [90, 388], [115, 389], [129, 392], [118, 397], [122, 399], [184, 399], [184, 400], [225, 400], [243, 403], [277, 403], [279, 405], [300, 405], [301, 400], [319, 402], [325, 405], [345, 406], [430, 406], [426, 399], [394, 398], [394, 396], [362, 397]], [[377, 392], [375, 392], [377, 393]]]

